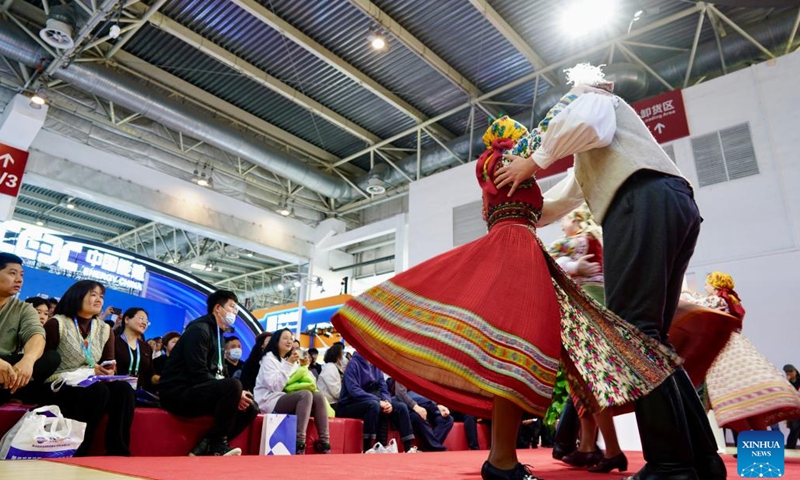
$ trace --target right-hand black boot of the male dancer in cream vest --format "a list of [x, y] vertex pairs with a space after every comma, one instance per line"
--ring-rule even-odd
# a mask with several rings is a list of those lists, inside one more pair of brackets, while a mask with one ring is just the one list
[[685, 370], [680, 369], [673, 376], [681, 394], [683, 411], [686, 412], [686, 424], [692, 439], [694, 469], [703, 480], [724, 480], [728, 477], [728, 471], [717, 453], [717, 441], [708, 423], [703, 403]]

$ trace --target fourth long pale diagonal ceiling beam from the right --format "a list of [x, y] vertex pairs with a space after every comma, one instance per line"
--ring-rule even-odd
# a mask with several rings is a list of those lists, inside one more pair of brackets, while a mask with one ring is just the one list
[[149, 21], [155, 25], [156, 28], [159, 28], [160, 30], [172, 35], [182, 42], [193, 46], [197, 50], [200, 50], [204, 54], [227, 66], [228, 68], [239, 72], [255, 83], [272, 90], [273, 92], [296, 103], [315, 115], [324, 118], [328, 122], [331, 122], [349, 134], [370, 144], [380, 141], [380, 138], [378, 138], [377, 135], [373, 134], [367, 129], [356, 125], [352, 121], [322, 105], [313, 98], [308, 97], [305, 94], [286, 85], [269, 73], [256, 67], [252, 63], [237, 57], [219, 45], [211, 42], [207, 38], [204, 38], [203, 36], [189, 30], [180, 23], [160, 13], [153, 14]]

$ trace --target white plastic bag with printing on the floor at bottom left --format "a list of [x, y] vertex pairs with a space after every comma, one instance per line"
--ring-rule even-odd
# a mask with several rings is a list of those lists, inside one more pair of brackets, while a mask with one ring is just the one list
[[57, 406], [39, 407], [23, 415], [0, 440], [0, 460], [72, 457], [85, 431], [85, 423], [64, 418]]

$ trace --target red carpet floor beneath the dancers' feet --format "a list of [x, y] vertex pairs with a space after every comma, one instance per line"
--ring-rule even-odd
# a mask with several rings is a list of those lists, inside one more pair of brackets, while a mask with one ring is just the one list
[[[198, 480], [263, 478], [297, 480], [320, 477], [325, 480], [361, 479], [459, 479], [479, 480], [480, 467], [486, 451], [444, 452], [395, 455], [307, 455], [305, 457], [149, 457], [149, 458], [71, 458], [54, 460], [60, 463], [89, 467], [106, 472], [131, 475], [153, 480]], [[611, 474], [589, 473], [553, 460], [550, 449], [520, 451], [520, 460], [534, 466], [534, 473], [545, 480], [602, 480], [619, 479]], [[628, 469], [635, 472], [643, 464], [640, 452], [629, 453]], [[728, 477], [736, 475], [736, 459], [723, 457]], [[784, 478], [800, 478], [800, 459], [786, 460]]]

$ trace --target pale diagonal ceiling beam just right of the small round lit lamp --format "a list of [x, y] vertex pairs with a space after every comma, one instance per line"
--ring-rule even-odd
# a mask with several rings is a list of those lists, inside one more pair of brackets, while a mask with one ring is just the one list
[[[444, 78], [449, 80], [453, 85], [466, 93], [470, 99], [477, 98], [483, 95], [478, 87], [473, 85], [469, 80], [464, 78], [455, 68], [450, 66], [443, 58], [436, 55], [430, 48], [425, 46], [417, 37], [411, 32], [403, 28], [402, 25], [397, 23], [386, 12], [381, 10], [377, 5], [370, 0], [349, 0], [353, 6], [361, 10], [366, 16], [379, 23], [384, 29], [398, 39], [409, 50], [416, 53], [418, 57], [430, 65], [434, 70], [439, 72]], [[487, 113], [490, 115], [497, 115], [497, 109], [492, 107], [484, 107], [490, 109]]]

